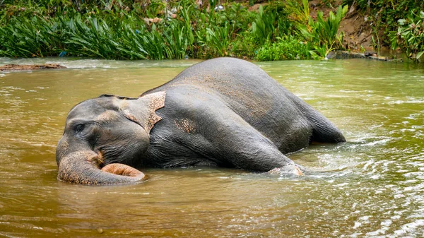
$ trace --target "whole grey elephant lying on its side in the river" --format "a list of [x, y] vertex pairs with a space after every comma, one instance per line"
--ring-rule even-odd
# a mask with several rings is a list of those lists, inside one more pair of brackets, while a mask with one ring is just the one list
[[135, 167], [216, 165], [301, 174], [284, 154], [342, 133], [258, 66], [204, 61], [139, 98], [102, 95], [71, 109], [57, 146], [58, 178], [141, 182]]

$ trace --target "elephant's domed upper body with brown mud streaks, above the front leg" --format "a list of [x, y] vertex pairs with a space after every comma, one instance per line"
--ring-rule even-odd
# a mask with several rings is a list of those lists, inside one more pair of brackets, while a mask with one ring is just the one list
[[[242, 59], [223, 57], [194, 64], [179, 73], [172, 81], [150, 90], [179, 92], [196, 87], [196, 90], [218, 95], [245, 120], [254, 123], [263, 117], [280, 114], [281, 109], [298, 114], [292, 100], [300, 100], [271, 78], [259, 66]], [[200, 93], [200, 92], [199, 92]], [[301, 101], [301, 100], [300, 100]], [[300, 102], [302, 103], [302, 102]]]

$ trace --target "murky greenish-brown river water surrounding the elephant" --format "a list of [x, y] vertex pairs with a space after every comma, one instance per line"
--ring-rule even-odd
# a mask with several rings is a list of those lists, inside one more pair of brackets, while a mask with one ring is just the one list
[[[423, 237], [424, 69], [367, 60], [258, 63], [348, 142], [289, 155], [304, 177], [142, 169], [130, 186], [57, 181], [66, 114], [136, 97], [196, 61], [1, 59], [69, 69], [0, 73], [0, 237]], [[260, 87], [260, 85], [258, 85]]]

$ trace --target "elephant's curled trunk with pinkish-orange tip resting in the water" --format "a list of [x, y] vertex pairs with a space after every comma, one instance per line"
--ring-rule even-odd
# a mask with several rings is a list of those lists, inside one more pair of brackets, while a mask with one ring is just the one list
[[91, 150], [75, 151], [61, 157], [57, 178], [64, 182], [85, 185], [135, 184], [145, 175], [123, 164], [102, 167], [101, 157]]

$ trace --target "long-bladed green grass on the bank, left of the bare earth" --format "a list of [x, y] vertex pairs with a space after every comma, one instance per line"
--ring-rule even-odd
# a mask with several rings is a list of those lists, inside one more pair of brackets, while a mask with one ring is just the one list
[[[331, 40], [338, 30], [330, 17], [308, 23], [315, 29], [309, 32], [313, 37], [302, 34], [301, 28], [295, 27], [299, 23], [288, 17], [288, 5], [283, 1], [271, 1], [259, 11], [247, 11], [248, 6], [237, 3], [223, 4], [223, 11], [208, 11], [194, 0], [168, 4], [152, 0], [146, 6], [134, 1], [111, 2], [0, 0], [0, 56], [44, 57], [67, 52], [66, 56], [95, 59], [310, 59], [322, 54], [319, 47], [323, 45], [330, 46], [327, 51], [334, 48]], [[213, 9], [218, 1], [209, 4]], [[304, 6], [299, 12], [309, 14]], [[176, 17], [170, 17], [172, 14]], [[149, 18], [160, 21], [152, 23]], [[336, 20], [340, 20], [338, 13]]]

